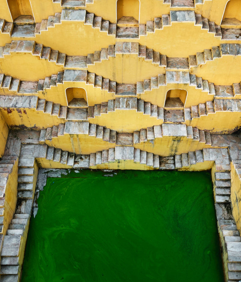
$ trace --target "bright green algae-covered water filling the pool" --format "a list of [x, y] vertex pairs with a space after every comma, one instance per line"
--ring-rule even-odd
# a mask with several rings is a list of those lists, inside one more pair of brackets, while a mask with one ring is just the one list
[[208, 172], [48, 178], [22, 282], [223, 282]]

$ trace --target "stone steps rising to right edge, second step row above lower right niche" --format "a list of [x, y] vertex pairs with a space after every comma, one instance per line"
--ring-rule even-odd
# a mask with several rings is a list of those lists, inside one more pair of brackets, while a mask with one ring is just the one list
[[241, 55], [241, 44], [224, 43], [220, 46], [214, 46], [212, 49], [205, 49], [204, 52], [199, 52], [196, 55], [190, 55], [189, 67], [206, 64], [207, 61], [222, 58], [224, 55]]

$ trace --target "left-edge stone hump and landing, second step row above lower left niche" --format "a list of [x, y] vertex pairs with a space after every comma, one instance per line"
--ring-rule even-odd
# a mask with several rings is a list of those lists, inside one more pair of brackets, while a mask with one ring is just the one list
[[[13, 52], [31, 53], [33, 56], [46, 59], [62, 67], [86, 68], [86, 56], [68, 56], [32, 40], [12, 40], [11, 43], [0, 46], [0, 58], [5, 58]], [[78, 61], [78, 64], [76, 64], [76, 61]]]

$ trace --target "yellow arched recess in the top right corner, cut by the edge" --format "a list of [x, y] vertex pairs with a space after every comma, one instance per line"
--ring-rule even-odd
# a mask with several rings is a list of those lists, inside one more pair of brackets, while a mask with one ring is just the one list
[[222, 28], [241, 28], [241, 1], [230, 0], [227, 2], [222, 23]]

